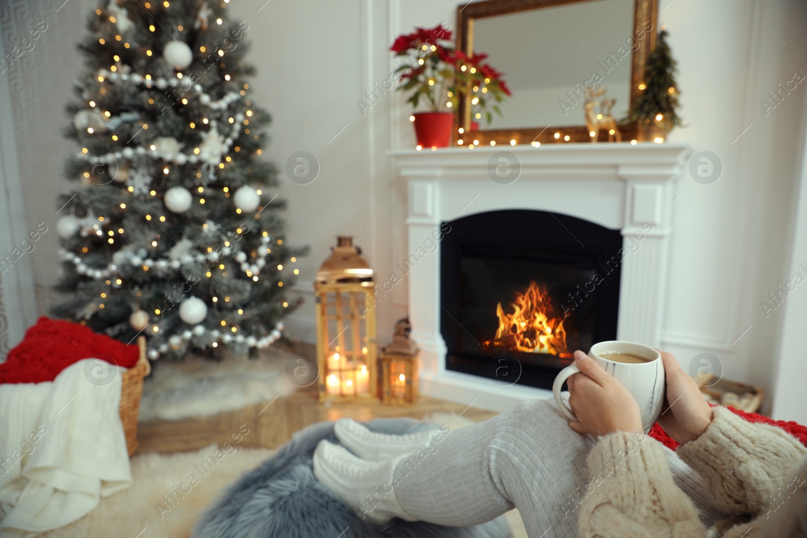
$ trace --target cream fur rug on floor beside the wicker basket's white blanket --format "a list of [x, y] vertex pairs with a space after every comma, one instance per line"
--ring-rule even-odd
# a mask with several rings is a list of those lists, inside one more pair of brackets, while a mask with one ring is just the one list
[[[222, 451], [224, 457], [209, 468], [206, 475], [202, 475], [197, 466], [209, 461], [208, 458], [219, 449], [215, 445], [199, 452], [147, 453], [132, 457], [132, 487], [102, 498], [101, 503], [90, 514], [40, 537], [187, 538], [199, 514], [218, 498], [226, 486], [274, 453], [268, 448], [237, 448], [237, 445], [232, 444], [230, 447], [231, 453]], [[192, 473], [199, 477], [199, 483], [190, 487], [188, 482]], [[189, 489], [187, 494], [174, 493], [175, 490]], [[178, 499], [173, 501], [173, 507], [165, 503], [165, 495]]]

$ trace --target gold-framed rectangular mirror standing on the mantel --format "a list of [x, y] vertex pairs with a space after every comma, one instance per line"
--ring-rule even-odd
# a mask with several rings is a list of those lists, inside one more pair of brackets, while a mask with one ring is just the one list
[[[512, 97], [499, 103], [501, 115], [494, 113], [487, 125], [484, 112], [474, 110], [465, 97], [473, 89], [466, 88], [458, 96], [454, 145], [608, 140], [608, 127], [597, 128], [592, 136], [588, 120], [601, 120], [600, 111], [607, 110], [618, 122], [638, 100], [657, 20], [658, 0], [461, 4], [458, 50], [469, 56], [487, 53], [490, 65], [504, 74]], [[587, 96], [587, 90], [595, 94], [600, 89], [604, 95]], [[617, 131], [622, 141], [637, 138], [635, 124], [620, 124]]]

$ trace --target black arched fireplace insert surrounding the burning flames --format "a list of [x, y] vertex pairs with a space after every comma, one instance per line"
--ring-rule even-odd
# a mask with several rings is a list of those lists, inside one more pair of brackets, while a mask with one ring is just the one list
[[[616, 339], [624, 256], [619, 230], [529, 210], [490, 211], [449, 225], [440, 265], [446, 369], [491, 377], [500, 386], [548, 389], [575, 349]], [[491, 344], [499, 327], [496, 305], [512, 313], [516, 293], [531, 283], [549, 293], [549, 314], [562, 319], [568, 353]]]

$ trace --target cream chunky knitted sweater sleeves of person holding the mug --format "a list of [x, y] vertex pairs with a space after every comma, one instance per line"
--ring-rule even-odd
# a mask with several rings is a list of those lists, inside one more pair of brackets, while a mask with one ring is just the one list
[[807, 448], [780, 428], [715, 407], [706, 432], [678, 448], [704, 478], [717, 511], [731, 516], [709, 530], [675, 486], [666, 450], [633, 433], [600, 438], [587, 457], [581, 538], [807, 536]]

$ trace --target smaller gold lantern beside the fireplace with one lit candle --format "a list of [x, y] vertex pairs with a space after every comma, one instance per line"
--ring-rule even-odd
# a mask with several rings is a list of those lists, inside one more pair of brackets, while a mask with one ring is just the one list
[[409, 339], [408, 319], [395, 323], [392, 343], [383, 348], [381, 362], [381, 401], [411, 405], [417, 400], [417, 356], [420, 350]]

